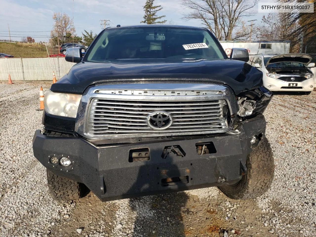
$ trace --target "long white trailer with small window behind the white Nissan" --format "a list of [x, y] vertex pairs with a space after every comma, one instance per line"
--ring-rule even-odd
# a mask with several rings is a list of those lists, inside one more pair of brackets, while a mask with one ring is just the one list
[[229, 56], [232, 48], [247, 49], [249, 55], [254, 54], [283, 54], [290, 52], [289, 40], [272, 40], [272, 41], [252, 41], [252, 40], [233, 40], [220, 41], [226, 54]]

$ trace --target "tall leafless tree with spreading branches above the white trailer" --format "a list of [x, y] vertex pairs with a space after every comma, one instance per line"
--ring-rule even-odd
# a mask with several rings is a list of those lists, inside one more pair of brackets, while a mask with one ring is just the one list
[[[199, 19], [219, 40], [236, 40], [247, 37], [243, 17], [252, 16], [252, 8], [258, 0], [181, 0], [182, 5], [191, 9], [183, 19]], [[236, 32], [233, 35], [233, 32]]]

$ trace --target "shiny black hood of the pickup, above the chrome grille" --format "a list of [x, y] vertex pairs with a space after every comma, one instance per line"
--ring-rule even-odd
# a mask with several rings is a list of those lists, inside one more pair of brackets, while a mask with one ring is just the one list
[[183, 82], [216, 83], [240, 94], [263, 85], [262, 72], [251, 65], [229, 59], [133, 59], [109, 63], [81, 62], [52, 84], [53, 92], [83, 94], [92, 85]]

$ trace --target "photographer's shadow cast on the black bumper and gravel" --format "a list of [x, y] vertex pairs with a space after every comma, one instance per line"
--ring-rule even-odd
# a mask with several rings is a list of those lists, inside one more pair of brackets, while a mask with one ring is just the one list
[[[151, 154], [154, 153], [160, 156], [161, 152], [151, 151]], [[159, 170], [153, 171], [150, 166], [141, 166], [137, 179], [130, 188], [129, 193], [142, 192], [150, 194], [157, 189], [165, 189], [166, 192], [170, 192], [171, 190], [185, 187], [183, 183], [186, 181], [172, 179], [184, 176], [183, 169], [179, 170], [177, 165], [172, 162], [173, 157], [168, 156], [166, 159], [166, 165], [160, 164], [162, 167], [159, 167]], [[169, 163], [170, 161], [171, 163]], [[157, 179], [157, 182], [153, 181], [155, 179]], [[130, 207], [136, 214], [133, 236], [186, 236], [181, 207], [184, 208], [188, 199], [189, 196], [184, 192], [131, 198]]]

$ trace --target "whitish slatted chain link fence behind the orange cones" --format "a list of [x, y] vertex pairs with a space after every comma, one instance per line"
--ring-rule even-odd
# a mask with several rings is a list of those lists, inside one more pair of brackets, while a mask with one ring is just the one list
[[67, 74], [74, 63], [64, 57], [51, 58], [0, 58], [0, 81], [51, 81], [53, 71], [60, 79]]

